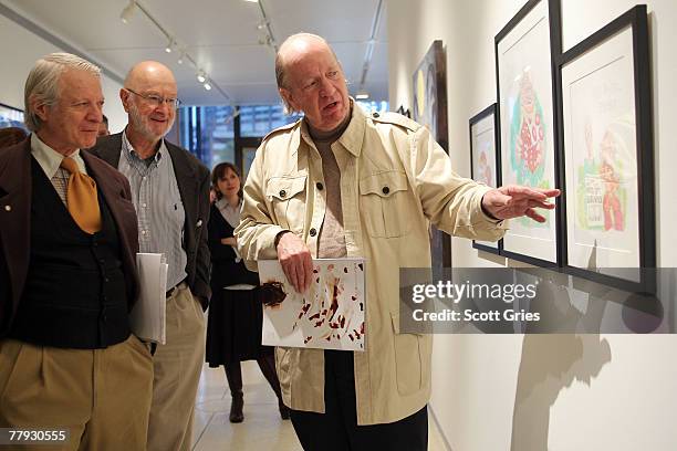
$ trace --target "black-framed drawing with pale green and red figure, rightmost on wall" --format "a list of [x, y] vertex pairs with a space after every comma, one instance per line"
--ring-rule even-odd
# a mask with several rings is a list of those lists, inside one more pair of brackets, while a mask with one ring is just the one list
[[655, 268], [654, 158], [646, 6], [559, 59], [561, 217], [574, 275], [648, 290]]

